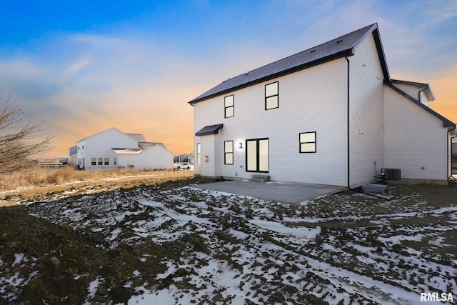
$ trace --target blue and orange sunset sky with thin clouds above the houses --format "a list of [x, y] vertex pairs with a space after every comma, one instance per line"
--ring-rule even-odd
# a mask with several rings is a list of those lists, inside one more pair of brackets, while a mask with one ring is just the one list
[[457, 121], [457, 1], [0, 2], [0, 88], [56, 132], [54, 154], [116, 126], [192, 151], [194, 97], [378, 23], [393, 79]]

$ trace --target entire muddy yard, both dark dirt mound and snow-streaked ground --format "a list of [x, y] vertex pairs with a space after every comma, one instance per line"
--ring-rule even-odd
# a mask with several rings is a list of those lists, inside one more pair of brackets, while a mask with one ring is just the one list
[[193, 187], [208, 182], [177, 171], [1, 194], [0, 304], [457, 299], [456, 185], [288, 205]]

